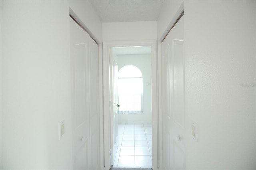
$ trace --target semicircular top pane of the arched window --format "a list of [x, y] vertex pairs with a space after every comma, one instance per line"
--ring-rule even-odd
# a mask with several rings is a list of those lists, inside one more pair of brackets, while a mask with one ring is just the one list
[[118, 78], [142, 78], [142, 73], [134, 65], [126, 65], [118, 71]]

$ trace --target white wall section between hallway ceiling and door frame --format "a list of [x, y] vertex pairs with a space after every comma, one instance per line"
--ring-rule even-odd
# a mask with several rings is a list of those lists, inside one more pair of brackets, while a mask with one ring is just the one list
[[156, 40], [156, 21], [103, 22], [102, 39], [105, 41]]

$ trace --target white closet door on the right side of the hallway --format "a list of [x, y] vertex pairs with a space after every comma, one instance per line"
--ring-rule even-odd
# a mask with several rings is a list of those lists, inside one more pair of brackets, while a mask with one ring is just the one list
[[184, 170], [185, 92], [184, 17], [162, 42], [163, 167]]

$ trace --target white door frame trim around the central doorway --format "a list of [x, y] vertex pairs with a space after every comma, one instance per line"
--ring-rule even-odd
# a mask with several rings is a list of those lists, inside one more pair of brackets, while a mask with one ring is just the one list
[[[122, 46], [151, 46], [151, 95], [152, 95], [152, 169], [158, 169], [158, 57], [157, 44], [155, 40], [148, 41], [116, 41], [103, 42], [103, 121], [104, 121], [104, 169], [110, 169], [110, 91], [109, 91], [109, 56], [108, 47], [122, 47]], [[101, 133], [102, 134], [102, 133]], [[101, 153], [102, 153], [101, 152]]]

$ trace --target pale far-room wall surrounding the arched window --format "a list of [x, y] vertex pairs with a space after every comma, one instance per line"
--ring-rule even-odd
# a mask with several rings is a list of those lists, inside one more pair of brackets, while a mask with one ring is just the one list
[[[151, 55], [117, 55], [118, 71], [126, 65], [134, 65], [143, 76], [143, 114], [119, 114], [119, 123], [151, 123]], [[147, 85], [148, 83], [148, 85]]]

